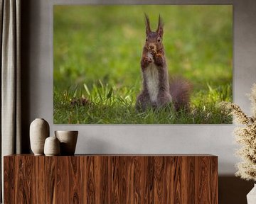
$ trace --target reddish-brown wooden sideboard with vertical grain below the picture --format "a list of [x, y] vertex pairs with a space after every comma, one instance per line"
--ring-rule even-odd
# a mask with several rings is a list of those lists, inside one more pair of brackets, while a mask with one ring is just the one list
[[4, 157], [4, 203], [218, 203], [218, 157], [10, 155]]

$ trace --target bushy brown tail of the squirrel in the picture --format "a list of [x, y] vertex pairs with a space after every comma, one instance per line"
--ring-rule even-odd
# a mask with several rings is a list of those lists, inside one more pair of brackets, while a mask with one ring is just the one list
[[192, 84], [183, 78], [174, 78], [170, 81], [170, 94], [176, 111], [188, 110]]

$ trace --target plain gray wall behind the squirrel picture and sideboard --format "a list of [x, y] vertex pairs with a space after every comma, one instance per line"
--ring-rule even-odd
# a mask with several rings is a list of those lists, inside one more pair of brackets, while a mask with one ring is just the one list
[[[90, 1], [90, 0], [89, 0]], [[220, 195], [233, 175], [234, 125], [53, 125], [53, 4], [81, 4], [89, 1], [22, 1], [22, 112], [23, 152], [29, 151], [28, 128], [34, 118], [45, 118], [54, 130], [79, 130], [76, 153], [208, 153], [218, 155]], [[93, 1], [92, 1], [93, 2]], [[100, 4], [104, 1], [95, 1]], [[115, 3], [122, 1], [112, 1]], [[156, 1], [129, 1], [130, 4]], [[191, 4], [191, 1], [161, 1]], [[209, 4], [193, 0], [193, 4]], [[215, 0], [210, 4], [233, 4], [234, 64], [233, 101], [250, 113], [245, 96], [256, 82], [256, 2]], [[226, 179], [226, 180], [225, 180]], [[221, 184], [222, 183], [222, 184]], [[221, 186], [223, 185], [223, 186]], [[245, 183], [245, 186], [248, 183]], [[234, 185], [233, 185], [234, 186]], [[228, 189], [228, 188], [227, 188]], [[226, 189], [226, 190], [227, 190]], [[245, 188], [243, 188], [245, 191]], [[242, 191], [240, 189], [240, 191]], [[245, 196], [245, 195], [243, 195]], [[228, 197], [222, 197], [222, 200]], [[229, 198], [231, 199], [231, 198]], [[244, 202], [245, 200], [240, 201]], [[231, 201], [229, 200], [228, 203]], [[235, 200], [235, 203], [238, 199]], [[227, 202], [222, 202], [227, 203]]]

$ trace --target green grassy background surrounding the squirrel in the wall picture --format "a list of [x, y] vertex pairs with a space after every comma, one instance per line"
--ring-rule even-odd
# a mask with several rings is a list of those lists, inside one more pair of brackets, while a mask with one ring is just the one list
[[[144, 13], [152, 29], [164, 19], [169, 75], [193, 84], [189, 112], [135, 111]], [[54, 123], [232, 123], [216, 106], [232, 101], [232, 26], [231, 6], [55, 6]], [[82, 96], [90, 104], [71, 104]]]

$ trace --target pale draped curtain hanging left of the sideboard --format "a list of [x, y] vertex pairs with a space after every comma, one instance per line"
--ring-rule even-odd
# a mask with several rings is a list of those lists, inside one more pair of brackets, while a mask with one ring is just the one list
[[3, 157], [21, 153], [21, 0], [0, 0], [0, 2], [1, 198], [3, 198]]

